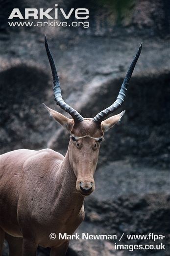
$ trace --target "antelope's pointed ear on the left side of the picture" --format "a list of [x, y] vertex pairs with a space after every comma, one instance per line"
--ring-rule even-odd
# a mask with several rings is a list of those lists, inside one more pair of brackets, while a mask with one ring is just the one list
[[49, 111], [49, 114], [62, 126], [67, 128], [69, 131], [71, 131], [73, 127], [73, 119], [67, 118], [64, 115], [60, 114], [59, 112], [49, 108], [43, 103], [43, 106]]

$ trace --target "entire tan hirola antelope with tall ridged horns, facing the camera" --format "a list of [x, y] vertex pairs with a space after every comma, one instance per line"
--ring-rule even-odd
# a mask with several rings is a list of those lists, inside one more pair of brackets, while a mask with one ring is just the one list
[[[4, 238], [10, 256], [35, 256], [37, 246], [50, 247], [51, 256], [64, 256], [69, 240], [84, 219], [83, 201], [95, 190], [94, 173], [104, 132], [120, 121], [125, 111], [105, 119], [121, 107], [142, 44], [130, 64], [116, 101], [94, 118], [83, 118], [62, 98], [55, 64], [45, 46], [52, 70], [54, 99], [67, 118], [47, 107], [50, 115], [70, 131], [66, 156], [51, 150], [20, 149], [0, 158], [0, 255]], [[50, 234], [55, 233], [50, 238]]]

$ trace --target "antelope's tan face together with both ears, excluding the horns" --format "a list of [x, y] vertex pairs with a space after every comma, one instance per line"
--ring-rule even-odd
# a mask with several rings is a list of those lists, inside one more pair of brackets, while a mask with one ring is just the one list
[[47, 107], [52, 117], [70, 131], [69, 162], [76, 176], [76, 190], [89, 195], [95, 190], [94, 173], [97, 166], [100, 143], [104, 132], [120, 121], [125, 111], [112, 116], [101, 123], [92, 118], [84, 118], [75, 123], [57, 111]]

